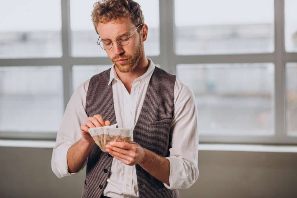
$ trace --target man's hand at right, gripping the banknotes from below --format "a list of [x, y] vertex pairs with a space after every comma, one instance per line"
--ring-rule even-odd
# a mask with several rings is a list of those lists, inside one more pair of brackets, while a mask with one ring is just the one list
[[110, 142], [105, 148], [110, 155], [130, 166], [141, 164], [146, 158], [146, 149], [136, 142]]

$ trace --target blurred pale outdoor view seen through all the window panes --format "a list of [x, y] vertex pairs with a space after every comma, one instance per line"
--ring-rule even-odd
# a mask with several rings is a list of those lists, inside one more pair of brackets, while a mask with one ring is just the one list
[[[159, 0], [137, 2], [149, 26], [146, 55], [157, 56]], [[91, 21], [94, 3], [70, 0], [71, 56], [106, 57]], [[297, 52], [296, 7], [297, 1], [285, 0], [287, 52]], [[175, 0], [174, 18], [177, 55], [274, 52], [273, 0]], [[0, 24], [0, 58], [62, 56], [60, 0], [6, 1], [0, 7]], [[99, 61], [97, 66], [72, 66], [72, 88], [110, 66]], [[195, 94], [200, 134], [274, 133], [273, 63], [178, 64], [176, 75]], [[297, 132], [296, 75], [297, 63], [287, 64], [290, 134]], [[56, 132], [64, 112], [62, 90], [61, 66], [0, 67], [0, 131]], [[21, 123], [15, 125], [16, 119]]]

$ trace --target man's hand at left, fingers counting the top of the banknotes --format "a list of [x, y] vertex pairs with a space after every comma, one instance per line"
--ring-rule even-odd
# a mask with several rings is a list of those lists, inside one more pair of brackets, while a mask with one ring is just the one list
[[88, 130], [93, 127], [109, 126], [109, 125], [110, 125], [110, 121], [109, 120], [103, 121], [103, 118], [100, 114], [94, 115], [92, 117], [90, 116], [83, 125], [80, 125], [82, 138], [88, 141], [89, 143], [94, 144], [95, 142]]

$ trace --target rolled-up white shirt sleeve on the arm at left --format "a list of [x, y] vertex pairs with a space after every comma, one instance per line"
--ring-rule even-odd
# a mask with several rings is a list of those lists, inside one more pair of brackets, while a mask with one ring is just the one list
[[[80, 125], [88, 119], [85, 111], [88, 86], [89, 80], [81, 84], [72, 94], [57, 133], [51, 166], [58, 178], [67, 177], [77, 173], [68, 172], [67, 152], [68, 149], [82, 137]], [[85, 167], [86, 163], [87, 160], [80, 170]]]

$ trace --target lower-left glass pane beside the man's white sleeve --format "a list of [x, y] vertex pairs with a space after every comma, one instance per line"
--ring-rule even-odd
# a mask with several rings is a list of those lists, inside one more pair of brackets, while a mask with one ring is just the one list
[[58, 131], [63, 115], [61, 66], [2, 66], [0, 85], [0, 131]]

